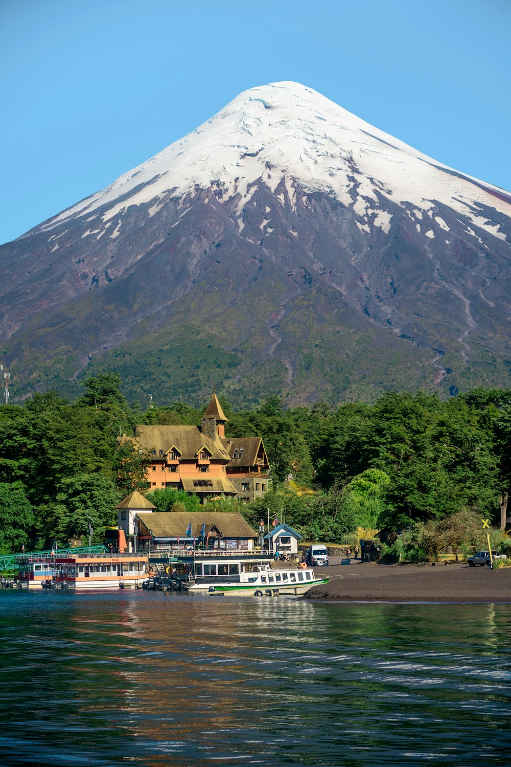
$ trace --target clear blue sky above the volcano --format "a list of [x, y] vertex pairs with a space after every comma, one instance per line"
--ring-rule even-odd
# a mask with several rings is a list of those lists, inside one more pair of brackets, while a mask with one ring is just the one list
[[0, 242], [282, 80], [511, 190], [510, 43], [510, 0], [1, 0]]

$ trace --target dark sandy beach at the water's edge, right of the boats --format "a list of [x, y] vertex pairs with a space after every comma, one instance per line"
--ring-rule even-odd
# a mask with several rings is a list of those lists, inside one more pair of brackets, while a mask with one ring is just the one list
[[316, 568], [330, 582], [303, 598], [329, 601], [510, 602], [511, 568], [468, 565], [337, 565]]

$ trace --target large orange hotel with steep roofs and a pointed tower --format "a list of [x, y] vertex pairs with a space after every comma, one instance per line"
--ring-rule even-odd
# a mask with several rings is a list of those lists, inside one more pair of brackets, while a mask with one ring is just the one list
[[[267, 492], [270, 465], [263, 440], [225, 436], [215, 393], [198, 426], [136, 426], [136, 442], [149, 457], [149, 489], [172, 487], [201, 497], [248, 502]], [[124, 438], [123, 438], [124, 439]]]

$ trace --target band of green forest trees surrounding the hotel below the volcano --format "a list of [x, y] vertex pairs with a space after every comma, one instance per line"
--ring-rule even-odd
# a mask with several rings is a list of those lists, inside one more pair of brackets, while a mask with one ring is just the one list
[[[0, 552], [105, 540], [116, 504], [144, 490], [144, 456], [118, 437], [136, 424], [200, 425], [184, 402], [142, 409], [123, 396], [117, 374], [90, 377], [69, 402], [55, 391], [0, 406]], [[226, 436], [258, 436], [272, 489], [240, 511], [257, 529], [267, 512], [307, 541], [354, 542], [389, 528], [400, 545], [431, 554], [446, 545], [483, 545], [480, 520], [500, 541], [511, 485], [511, 390], [477, 388], [449, 400], [417, 391], [374, 403], [284, 408], [270, 397], [228, 417]], [[158, 511], [198, 510], [198, 499], [171, 489], [148, 494]], [[408, 535], [408, 538], [407, 538]], [[408, 544], [406, 543], [408, 540]], [[403, 543], [404, 542], [404, 543]], [[504, 545], [504, 548], [505, 545]]]

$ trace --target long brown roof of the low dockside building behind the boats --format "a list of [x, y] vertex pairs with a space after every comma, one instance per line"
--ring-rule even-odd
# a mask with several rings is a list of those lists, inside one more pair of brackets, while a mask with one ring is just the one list
[[154, 538], [185, 538], [185, 532], [192, 522], [192, 536], [201, 537], [201, 528], [205, 532], [215, 526], [223, 538], [257, 538], [257, 532], [245, 522], [241, 514], [231, 512], [156, 512], [136, 515], [145, 527], [152, 531]]

